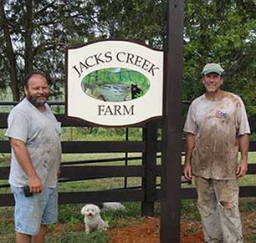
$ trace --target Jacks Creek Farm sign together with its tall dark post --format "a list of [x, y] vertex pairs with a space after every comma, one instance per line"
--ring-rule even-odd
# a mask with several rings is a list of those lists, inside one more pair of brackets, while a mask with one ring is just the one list
[[97, 126], [130, 126], [164, 116], [160, 242], [178, 243], [184, 0], [165, 3], [165, 56], [124, 40], [67, 47], [66, 115]]

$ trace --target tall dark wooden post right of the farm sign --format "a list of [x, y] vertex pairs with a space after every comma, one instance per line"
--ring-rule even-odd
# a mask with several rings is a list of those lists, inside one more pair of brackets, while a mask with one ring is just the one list
[[180, 242], [184, 0], [167, 1], [161, 243]]

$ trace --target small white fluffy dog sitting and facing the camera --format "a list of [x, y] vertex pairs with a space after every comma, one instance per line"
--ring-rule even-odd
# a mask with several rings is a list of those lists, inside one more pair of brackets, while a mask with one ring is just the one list
[[81, 209], [81, 214], [84, 215], [84, 224], [86, 227], [86, 233], [90, 233], [92, 229], [97, 229], [100, 231], [108, 230], [108, 223], [102, 220], [100, 216], [100, 209], [97, 205], [86, 204], [86, 206]]

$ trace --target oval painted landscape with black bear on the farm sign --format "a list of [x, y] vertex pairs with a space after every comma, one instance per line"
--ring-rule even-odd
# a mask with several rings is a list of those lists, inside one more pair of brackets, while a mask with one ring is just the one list
[[130, 101], [145, 96], [150, 82], [140, 72], [123, 69], [99, 69], [83, 77], [83, 92], [94, 99], [110, 102]]

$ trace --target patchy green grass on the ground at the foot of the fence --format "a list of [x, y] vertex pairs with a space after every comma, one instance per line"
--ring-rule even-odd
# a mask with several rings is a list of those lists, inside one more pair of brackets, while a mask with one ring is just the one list
[[[128, 225], [130, 219], [136, 219], [143, 223], [140, 217], [140, 203], [125, 203], [124, 212], [103, 212], [102, 218], [108, 221], [110, 228], [122, 228]], [[91, 243], [108, 243], [108, 232], [94, 231], [92, 234], [86, 234], [83, 226], [83, 216], [80, 215], [80, 209], [83, 204], [63, 204], [59, 205], [59, 223], [50, 225], [46, 242], [63, 243], [63, 242], [91, 242]], [[256, 198], [240, 198], [241, 214], [244, 212], [256, 212]], [[160, 214], [160, 204], [155, 205], [155, 215]], [[15, 242], [15, 231], [13, 217], [13, 207], [0, 208], [0, 242]], [[200, 215], [197, 211], [195, 200], [181, 201], [181, 220], [190, 223], [200, 221]], [[245, 243], [255, 242], [255, 225], [249, 226], [247, 230], [252, 234], [245, 235]], [[190, 228], [189, 232], [195, 233], [196, 228]]]

